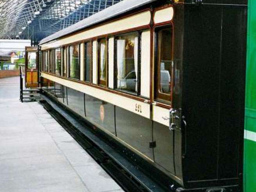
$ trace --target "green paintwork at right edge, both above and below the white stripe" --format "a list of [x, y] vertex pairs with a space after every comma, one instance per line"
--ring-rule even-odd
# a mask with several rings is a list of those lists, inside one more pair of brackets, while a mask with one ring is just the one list
[[[256, 132], [256, 0], [248, 3], [245, 129]], [[245, 139], [244, 192], [256, 191], [256, 142]]]

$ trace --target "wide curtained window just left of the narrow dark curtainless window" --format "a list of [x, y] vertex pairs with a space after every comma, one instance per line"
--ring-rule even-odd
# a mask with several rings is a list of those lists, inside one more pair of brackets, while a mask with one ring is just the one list
[[79, 44], [69, 46], [69, 77], [80, 80]]

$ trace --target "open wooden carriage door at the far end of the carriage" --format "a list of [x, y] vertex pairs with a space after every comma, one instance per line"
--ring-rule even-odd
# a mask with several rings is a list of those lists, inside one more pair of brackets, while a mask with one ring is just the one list
[[39, 62], [38, 47], [25, 48], [25, 85], [26, 87], [38, 87]]

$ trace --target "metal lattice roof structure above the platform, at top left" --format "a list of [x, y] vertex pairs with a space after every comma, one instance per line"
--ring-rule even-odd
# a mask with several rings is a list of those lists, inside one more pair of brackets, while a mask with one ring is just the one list
[[0, 38], [39, 40], [119, 1], [0, 0]]

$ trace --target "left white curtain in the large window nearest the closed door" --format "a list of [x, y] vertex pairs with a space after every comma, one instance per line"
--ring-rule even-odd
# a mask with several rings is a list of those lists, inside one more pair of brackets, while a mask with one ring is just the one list
[[126, 55], [125, 55], [126, 40], [119, 39], [117, 41], [117, 89], [126, 88]]

